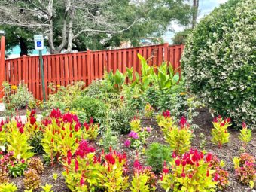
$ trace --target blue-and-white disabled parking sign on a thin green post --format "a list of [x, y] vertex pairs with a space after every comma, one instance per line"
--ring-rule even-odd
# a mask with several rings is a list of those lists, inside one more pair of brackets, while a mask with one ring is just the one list
[[43, 35], [34, 35], [35, 41], [35, 50], [39, 51], [39, 60], [40, 60], [40, 69], [41, 69], [41, 85], [43, 90], [44, 102], [46, 101], [45, 96], [45, 86], [44, 86], [44, 62], [42, 50], [44, 50], [44, 36]]

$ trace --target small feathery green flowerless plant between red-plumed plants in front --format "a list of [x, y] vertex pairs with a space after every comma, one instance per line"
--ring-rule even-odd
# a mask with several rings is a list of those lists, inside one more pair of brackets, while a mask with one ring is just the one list
[[160, 172], [163, 169], [163, 162], [171, 160], [171, 149], [166, 145], [154, 142], [149, 145], [146, 151], [147, 164], [152, 167], [154, 172]]

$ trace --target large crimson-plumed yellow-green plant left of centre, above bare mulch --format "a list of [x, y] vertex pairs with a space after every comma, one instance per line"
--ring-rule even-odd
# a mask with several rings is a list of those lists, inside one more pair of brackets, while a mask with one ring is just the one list
[[59, 109], [53, 109], [44, 120], [43, 132], [41, 144], [52, 165], [54, 158], [58, 161], [59, 157], [66, 157], [68, 151], [74, 153], [83, 135], [78, 117], [69, 112], [62, 114]]

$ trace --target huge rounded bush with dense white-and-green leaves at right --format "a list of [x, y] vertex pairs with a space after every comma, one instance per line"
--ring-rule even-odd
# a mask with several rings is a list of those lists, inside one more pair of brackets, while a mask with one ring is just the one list
[[198, 23], [181, 62], [187, 85], [216, 114], [256, 125], [256, 2], [230, 0]]

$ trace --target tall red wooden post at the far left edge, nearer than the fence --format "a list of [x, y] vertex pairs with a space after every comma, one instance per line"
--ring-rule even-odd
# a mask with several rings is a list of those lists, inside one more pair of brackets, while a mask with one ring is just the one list
[[4, 96], [2, 84], [5, 81], [5, 36], [2, 36], [0, 42], [0, 102]]

